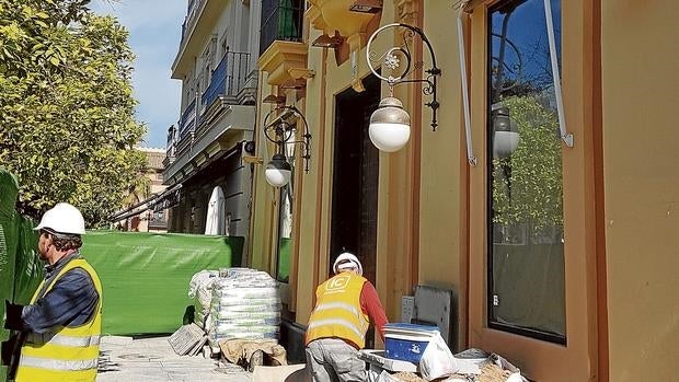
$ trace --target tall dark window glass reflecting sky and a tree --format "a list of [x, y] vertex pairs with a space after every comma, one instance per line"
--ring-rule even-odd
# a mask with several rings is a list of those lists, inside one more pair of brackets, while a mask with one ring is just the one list
[[[551, 4], [561, 62], [561, 1]], [[565, 344], [562, 157], [543, 1], [503, 1], [487, 22], [487, 324]]]

